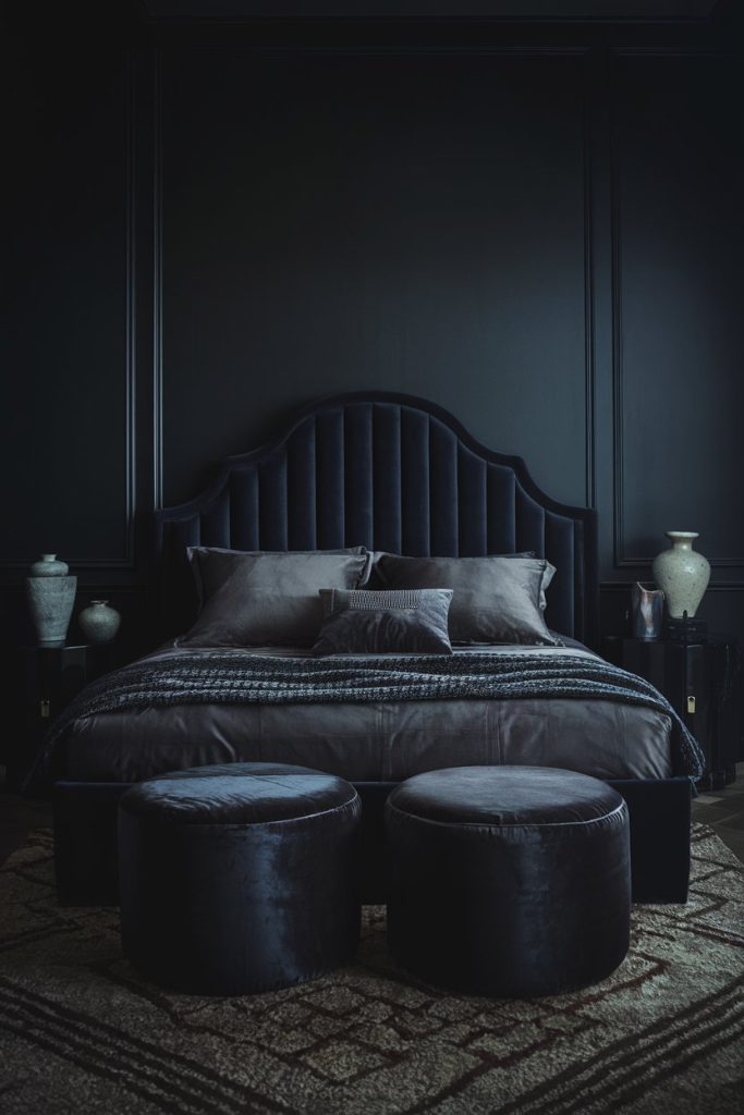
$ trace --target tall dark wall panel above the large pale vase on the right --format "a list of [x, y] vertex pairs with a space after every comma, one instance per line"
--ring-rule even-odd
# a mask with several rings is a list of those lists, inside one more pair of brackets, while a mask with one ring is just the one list
[[[616, 90], [618, 563], [665, 530], [744, 565], [742, 117], [727, 58], [626, 58]], [[735, 574], [733, 574], [735, 575]]]

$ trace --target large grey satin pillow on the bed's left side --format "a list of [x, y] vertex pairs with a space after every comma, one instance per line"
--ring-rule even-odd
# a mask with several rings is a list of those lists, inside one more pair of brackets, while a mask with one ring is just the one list
[[368, 574], [369, 560], [366, 551], [212, 552], [206, 562], [209, 580], [202, 582], [202, 610], [176, 642], [187, 647], [310, 646], [322, 621], [319, 590], [356, 589]]

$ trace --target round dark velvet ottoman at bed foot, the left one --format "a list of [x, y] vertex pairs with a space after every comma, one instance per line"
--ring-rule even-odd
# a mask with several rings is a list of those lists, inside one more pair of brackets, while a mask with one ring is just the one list
[[274, 763], [176, 770], [122, 796], [122, 941], [148, 978], [197, 995], [312, 979], [359, 938], [354, 786]]

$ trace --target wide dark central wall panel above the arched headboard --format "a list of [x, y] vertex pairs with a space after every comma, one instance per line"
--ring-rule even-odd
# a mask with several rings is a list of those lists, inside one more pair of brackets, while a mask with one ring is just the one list
[[582, 97], [571, 56], [166, 51], [166, 502], [384, 388], [583, 503]]

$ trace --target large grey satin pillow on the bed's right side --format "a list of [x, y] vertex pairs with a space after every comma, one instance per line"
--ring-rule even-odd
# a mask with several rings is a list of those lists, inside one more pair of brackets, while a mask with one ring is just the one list
[[562, 646], [550, 633], [540, 607], [545, 574], [541, 558], [398, 558], [383, 554], [377, 574], [390, 589], [452, 589], [453, 642]]

